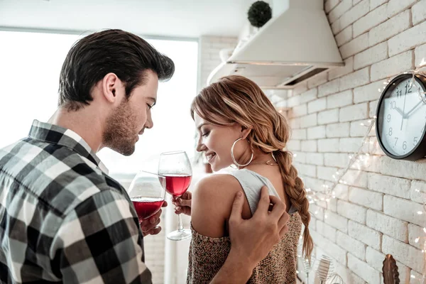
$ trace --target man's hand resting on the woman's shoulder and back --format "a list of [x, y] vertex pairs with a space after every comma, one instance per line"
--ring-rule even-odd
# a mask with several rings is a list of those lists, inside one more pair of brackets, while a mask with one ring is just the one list
[[278, 197], [268, 195], [267, 187], [262, 187], [261, 200], [251, 219], [242, 219], [243, 204], [242, 192], [238, 192], [229, 217], [231, 252], [253, 269], [287, 233], [290, 216]]

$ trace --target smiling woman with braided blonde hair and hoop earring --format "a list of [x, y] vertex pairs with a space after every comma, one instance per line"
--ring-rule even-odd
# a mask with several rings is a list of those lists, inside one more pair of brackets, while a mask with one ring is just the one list
[[[249, 283], [296, 283], [297, 243], [302, 224], [303, 253], [310, 258], [309, 202], [303, 182], [284, 151], [290, 138], [285, 118], [260, 87], [241, 76], [223, 77], [202, 89], [191, 107], [202, 151], [214, 171], [236, 165], [230, 174], [215, 174], [196, 185], [192, 195], [192, 240], [187, 283], [209, 283], [230, 249], [227, 222], [237, 190], [246, 195], [243, 217], [256, 211], [261, 187], [285, 201], [288, 233], [253, 270]], [[182, 199], [190, 199], [185, 195]], [[180, 205], [188, 200], [178, 200]], [[178, 213], [188, 207], [178, 207]], [[256, 230], [253, 227], [253, 230]], [[232, 232], [231, 232], [232, 234]], [[247, 236], [248, 238], [250, 236]]]

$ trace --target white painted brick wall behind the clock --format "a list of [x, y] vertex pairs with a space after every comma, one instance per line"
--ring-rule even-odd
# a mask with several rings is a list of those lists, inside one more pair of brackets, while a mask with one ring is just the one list
[[[297, 170], [323, 197], [322, 185], [361, 146], [368, 119], [391, 77], [426, 60], [426, 0], [324, 0], [345, 66], [300, 84], [288, 99], [296, 127], [288, 149], [305, 153]], [[301, 130], [301, 131], [300, 131]], [[426, 226], [426, 159], [393, 160], [378, 146], [375, 129], [356, 163], [335, 188], [336, 199], [311, 205], [315, 251], [335, 261], [346, 283], [381, 283], [386, 253], [395, 257], [401, 283], [422, 272]], [[294, 148], [293, 148], [294, 146]]]

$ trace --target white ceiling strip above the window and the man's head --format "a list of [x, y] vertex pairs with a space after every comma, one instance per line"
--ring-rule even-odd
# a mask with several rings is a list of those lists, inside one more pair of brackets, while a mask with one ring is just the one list
[[[238, 36], [254, 0], [0, 0], [0, 28]], [[271, 1], [269, 1], [271, 2]]]

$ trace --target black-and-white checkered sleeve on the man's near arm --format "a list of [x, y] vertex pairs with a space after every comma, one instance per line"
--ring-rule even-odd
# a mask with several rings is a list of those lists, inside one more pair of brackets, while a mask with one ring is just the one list
[[113, 189], [68, 213], [52, 247], [63, 283], [151, 283], [133, 214], [129, 200]]

